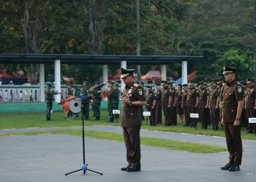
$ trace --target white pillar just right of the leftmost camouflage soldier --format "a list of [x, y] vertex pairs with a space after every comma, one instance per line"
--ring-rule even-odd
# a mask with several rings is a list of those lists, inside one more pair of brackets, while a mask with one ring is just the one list
[[[56, 92], [61, 92], [61, 60], [55, 60], [54, 61], [54, 71], [55, 71], [55, 90]], [[61, 95], [57, 94], [55, 95], [55, 102], [59, 103], [61, 102]]]

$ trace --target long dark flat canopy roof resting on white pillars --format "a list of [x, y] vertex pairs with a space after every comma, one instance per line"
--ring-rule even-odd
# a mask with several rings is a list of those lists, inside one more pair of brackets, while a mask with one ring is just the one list
[[196, 60], [200, 55], [59, 55], [0, 53], [0, 63], [47, 64], [61, 60], [62, 64], [118, 64], [122, 60], [131, 65], [158, 65]]

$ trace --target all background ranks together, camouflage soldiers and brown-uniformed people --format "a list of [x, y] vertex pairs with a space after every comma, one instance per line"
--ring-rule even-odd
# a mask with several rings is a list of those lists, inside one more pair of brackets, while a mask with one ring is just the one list
[[[223, 77], [211, 79], [208, 82], [193, 82], [188, 80], [188, 84], [178, 84], [175, 87], [173, 81], [156, 82], [153, 86], [146, 86], [144, 83], [137, 82], [143, 88], [146, 95], [146, 110], [151, 113], [149, 121], [151, 126], [162, 124], [164, 118], [165, 126], [176, 126], [177, 116], [185, 127], [197, 128], [197, 122], [201, 123], [202, 129], [219, 130], [222, 127], [220, 121], [221, 105], [220, 94], [223, 85]], [[83, 100], [83, 114], [85, 119], [89, 119], [89, 106], [92, 100], [92, 108], [94, 111], [95, 120], [100, 119], [100, 105], [102, 101], [101, 92], [91, 90], [92, 87], [99, 85], [95, 82], [93, 85], [85, 81], [82, 88], [78, 87], [78, 82], [71, 79], [67, 83], [66, 98], [69, 96], [78, 96], [81, 93], [86, 93], [89, 97]], [[244, 88], [244, 109], [241, 114], [241, 126], [246, 127], [249, 133], [255, 133], [255, 124], [249, 124], [250, 117], [256, 116], [256, 87], [254, 79], [247, 79], [240, 83]], [[50, 93], [49, 84], [48, 91], [45, 92], [46, 100], [48, 101], [47, 119], [50, 120], [51, 103], [54, 92]], [[114, 122], [119, 116], [113, 114], [113, 110], [118, 110], [121, 92], [117, 82], [109, 82], [108, 90], [108, 122]], [[143, 106], [140, 106], [140, 114], [143, 118]], [[199, 118], [191, 118], [190, 114], [199, 114]], [[72, 116], [72, 111], [69, 111], [67, 116]]]

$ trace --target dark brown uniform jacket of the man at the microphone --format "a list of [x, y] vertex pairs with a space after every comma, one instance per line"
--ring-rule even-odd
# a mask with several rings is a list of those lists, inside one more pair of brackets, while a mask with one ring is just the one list
[[[129, 99], [130, 101], [146, 101], [142, 87], [132, 82], [127, 84], [124, 88], [122, 99]], [[133, 106], [129, 104], [122, 105], [121, 109], [121, 127], [138, 127], [142, 124], [140, 106]]]

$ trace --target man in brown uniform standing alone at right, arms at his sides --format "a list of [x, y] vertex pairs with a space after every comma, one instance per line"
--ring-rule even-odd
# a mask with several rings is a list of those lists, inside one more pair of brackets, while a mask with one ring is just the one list
[[240, 116], [244, 108], [244, 90], [236, 82], [235, 73], [238, 68], [223, 67], [226, 83], [221, 90], [222, 125], [225, 130], [227, 149], [230, 153], [229, 162], [221, 167], [222, 170], [240, 170], [243, 147], [240, 132]]

